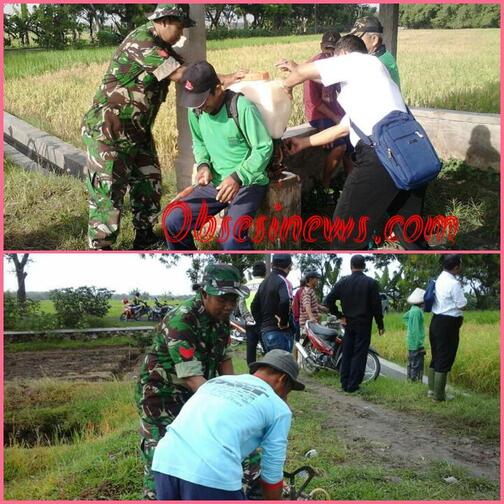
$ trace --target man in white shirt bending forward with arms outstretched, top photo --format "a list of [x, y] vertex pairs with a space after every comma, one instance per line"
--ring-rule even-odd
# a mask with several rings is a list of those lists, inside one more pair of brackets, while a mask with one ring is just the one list
[[[291, 92], [294, 86], [306, 80], [319, 79], [324, 86], [340, 83], [338, 102], [346, 115], [337, 126], [311, 137], [294, 140], [291, 152], [324, 145], [350, 132], [350, 141], [355, 146], [354, 169], [345, 182], [333, 219], [339, 217], [345, 222], [353, 219], [355, 226], [348, 240], [336, 239], [332, 248], [365, 248], [386, 213], [390, 216], [400, 215], [405, 220], [411, 215], [422, 214], [425, 186], [414, 191], [397, 188], [374, 149], [360, 140], [350, 120], [365, 135], [371, 135], [376, 123], [394, 110], [406, 112], [406, 105], [387, 68], [378, 58], [367, 54], [364, 42], [354, 35], [346, 35], [337, 42], [333, 58], [292, 68], [284, 80], [284, 87]], [[357, 243], [355, 238], [361, 231], [358, 225], [361, 217], [368, 217], [369, 220], [365, 239]], [[423, 239], [415, 242], [405, 240], [400, 227], [396, 226], [394, 233], [404, 248], [427, 248]]]

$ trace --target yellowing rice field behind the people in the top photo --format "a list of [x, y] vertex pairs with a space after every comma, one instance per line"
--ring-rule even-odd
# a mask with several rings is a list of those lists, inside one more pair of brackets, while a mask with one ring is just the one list
[[[251, 41], [250, 41], [251, 40]], [[295, 42], [295, 40], [299, 40]], [[250, 42], [249, 42], [250, 41]], [[264, 45], [259, 45], [262, 42]], [[317, 37], [245, 39], [209, 43], [208, 60], [218, 71], [268, 70], [280, 58], [305, 61], [319, 49]], [[89, 108], [113, 48], [8, 52], [5, 110], [82, 148], [80, 122]], [[499, 30], [404, 30], [399, 33], [398, 65], [403, 94], [412, 107], [499, 112]], [[154, 128], [165, 170], [177, 148], [175, 93], [169, 93]], [[304, 122], [302, 87], [294, 92], [290, 124]]]

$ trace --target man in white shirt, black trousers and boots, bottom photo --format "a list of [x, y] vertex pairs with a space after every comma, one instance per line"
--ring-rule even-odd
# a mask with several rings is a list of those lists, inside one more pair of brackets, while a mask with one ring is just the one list
[[459, 333], [467, 299], [456, 275], [462, 270], [462, 256], [443, 257], [443, 272], [436, 280], [436, 297], [432, 306], [429, 340], [432, 361], [429, 366], [429, 396], [435, 401], [446, 400], [446, 379], [459, 345]]

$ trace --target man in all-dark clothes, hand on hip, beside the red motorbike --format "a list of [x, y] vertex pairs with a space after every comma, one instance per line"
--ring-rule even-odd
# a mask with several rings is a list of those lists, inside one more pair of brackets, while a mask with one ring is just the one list
[[[364, 378], [373, 317], [380, 336], [385, 332], [378, 282], [364, 275], [366, 263], [360, 254], [352, 256], [350, 267], [352, 274], [337, 282], [324, 301], [332, 314], [346, 319], [341, 359], [341, 387], [345, 392], [359, 390]], [[336, 307], [337, 300], [343, 314]]]

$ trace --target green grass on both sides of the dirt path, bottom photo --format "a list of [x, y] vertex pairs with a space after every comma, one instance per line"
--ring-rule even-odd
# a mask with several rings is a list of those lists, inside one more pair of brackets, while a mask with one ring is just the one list
[[[242, 358], [236, 357], [234, 364], [238, 373], [246, 371]], [[334, 375], [329, 374], [320, 374], [318, 379], [331, 386], [335, 382]], [[42, 380], [8, 383], [5, 387], [6, 424], [25, 429], [27, 439], [32, 436], [30, 445], [18, 440], [4, 450], [6, 499], [140, 497], [142, 468], [131, 383]], [[435, 407], [420, 399], [421, 388], [380, 378], [365, 388], [364, 397], [387, 404], [392, 410], [428, 415], [431, 421], [444, 422], [443, 429], [450, 433], [467, 426], [464, 436], [478, 431], [480, 438], [498, 436], [496, 398], [484, 397], [482, 401], [481, 396], [462, 396], [452, 404]], [[473, 477], [443, 461], [427, 461], [420, 466], [383, 464], [369, 446], [348, 443], [324, 427], [329, 413], [318, 393], [293, 393], [289, 405], [293, 423], [286, 469], [306, 464], [303, 454], [315, 446], [318, 456], [309, 463], [317, 477], [309, 489], [324, 488], [331, 499], [466, 500], [498, 496], [496, 482]], [[55, 426], [70, 429], [58, 430]], [[455, 476], [459, 483], [446, 485], [442, 479], [446, 475]]]

